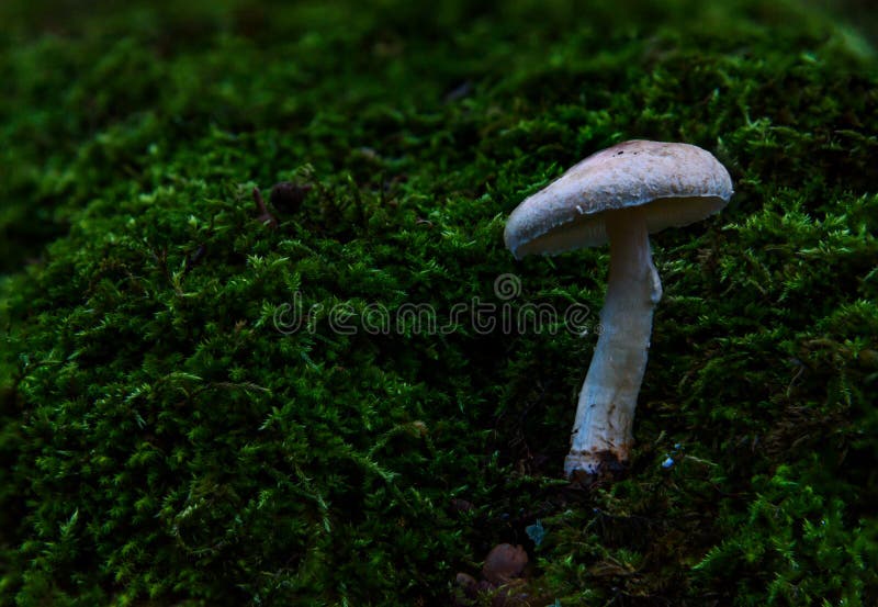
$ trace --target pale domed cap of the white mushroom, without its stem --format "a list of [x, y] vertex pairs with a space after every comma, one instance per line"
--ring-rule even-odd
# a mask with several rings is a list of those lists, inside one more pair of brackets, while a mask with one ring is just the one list
[[689, 144], [630, 140], [593, 154], [509, 215], [504, 240], [516, 258], [608, 241], [606, 213], [643, 207], [650, 233], [719, 212], [732, 179], [712, 154]]

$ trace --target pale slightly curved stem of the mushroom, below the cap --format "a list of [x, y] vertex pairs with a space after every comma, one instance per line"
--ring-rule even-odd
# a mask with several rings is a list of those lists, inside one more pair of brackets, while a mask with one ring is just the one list
[[662, 299], [643, 210], [611, 211], [606, 226], [610, 272], [600, 312], [603, 330], [579, 393], [571, 450], [564, 462], [569, 477], [618, 471], [628, 462], [653, 308]]

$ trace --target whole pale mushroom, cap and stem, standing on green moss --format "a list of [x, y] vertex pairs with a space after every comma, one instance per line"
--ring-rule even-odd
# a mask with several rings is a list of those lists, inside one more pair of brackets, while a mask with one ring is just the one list
[[517, 259], [610, 245], [601, 333], [579, 393], [567, 477], [594, 479], [628, 463], [653, 308], [662, 297], [650, 233], [703, 220], [731, 195], [729, 172], [710, 153], [631, 140], [589, 156], [509, 216], [504, 240]]

